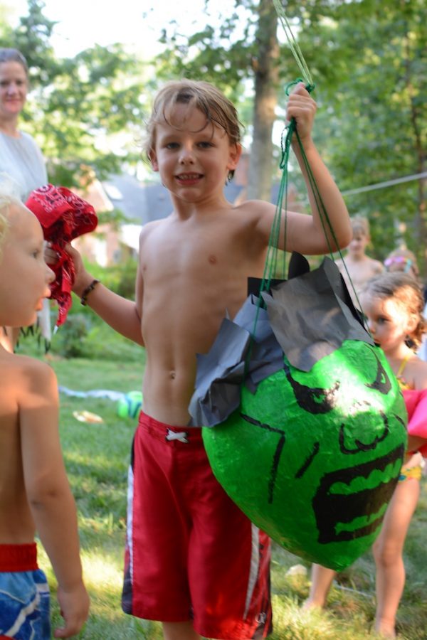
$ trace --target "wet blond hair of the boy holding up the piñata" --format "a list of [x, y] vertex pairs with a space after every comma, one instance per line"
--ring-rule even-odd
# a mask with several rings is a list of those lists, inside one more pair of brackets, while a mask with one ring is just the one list
[[[147, 156], [156, 145], [156, 125], [162, 122], [179, 129], [172, 124], [172, 112], [176, 105], [188, 105], [189, 108], [199, 109], [206, 116], [206, 122], [221, 127], [230, 144], [241, 142], [241, 122], [239, 122], [236, 107], [223, 93], [210, 82], [203, 80], [172, 80], [157, 93], [154, 98], [152, 114], [147, 122], [147, 134], [144, 150]], [[230, 171], [228, 178], [232, 178], [234, 171]]]

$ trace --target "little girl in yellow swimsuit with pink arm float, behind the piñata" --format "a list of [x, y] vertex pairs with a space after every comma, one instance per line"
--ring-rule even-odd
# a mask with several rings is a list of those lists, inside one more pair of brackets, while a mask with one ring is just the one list
[[[404, 543], [420, 493], [423, 456], [418, 449], [423, 455], [427, 454], [427, 363], [413, 351], [427, 329], [423, 295], [409, 274], [384, 273], [370, 279], [362, 290], [361, 302], [369, 331], [396, 373], [408, 410], [406, 459], [373, 547], [374, 627], [382, 636], [396, 638], [396, 614], [405, 585]], [[331, 569], [312, 566], [312, 584], [305, 608], [325, 606], [334, 576]]]

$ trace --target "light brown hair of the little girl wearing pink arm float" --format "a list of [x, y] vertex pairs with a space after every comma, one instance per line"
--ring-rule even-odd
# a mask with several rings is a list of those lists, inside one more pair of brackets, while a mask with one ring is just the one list
[[408, 339], [414, 350], [421, 344], [427, 331], [427, 321], [423, 316], [424, 297], [416, 279], [403, 271], [383, 272], [370, 278], [362, 289], [364, 295], [381, 300], [392, 299], [402, 311], [418, 318], [418, 323]]

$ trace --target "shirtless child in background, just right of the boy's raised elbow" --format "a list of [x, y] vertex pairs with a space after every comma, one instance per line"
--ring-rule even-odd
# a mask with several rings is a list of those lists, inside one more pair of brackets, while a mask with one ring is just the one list
[[344, 260], [337, 260], [339, 271], [342, 273], [347, 289], [351, 295], [354, 304], [359, 307], [357, 298], [367, 280], [381, 273], [384, 266], [379, 260], [367, 255], [366, 250], [371, 241], [369, 231], [369, 222], [362, 215], [354, 215], [350, 218], [352, 225], [352, 241], [347, 247], [347, 253]]

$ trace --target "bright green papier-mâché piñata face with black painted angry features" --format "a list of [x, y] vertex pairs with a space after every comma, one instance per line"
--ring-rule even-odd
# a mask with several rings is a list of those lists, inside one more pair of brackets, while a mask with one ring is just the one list
[[380, 348], [347, 340], [309, 372], [243, 386], [204, 428], [212, 469], [256, 526], [290, 552], [342, 570], [370, 548], [396, 486], [406, 407]]

